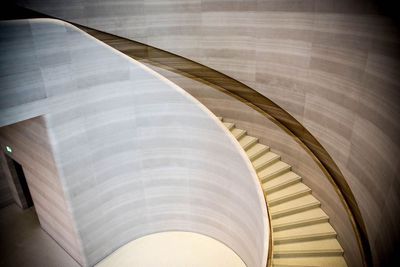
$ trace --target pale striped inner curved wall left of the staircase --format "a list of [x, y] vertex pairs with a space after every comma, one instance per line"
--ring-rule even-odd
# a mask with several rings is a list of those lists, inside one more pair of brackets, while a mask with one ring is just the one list
[[69, 24], [10, 21], [0, 36], [0, 125], [43, 116], [82, 264], [181, 230], [220, 240], [249, 267], [265, 265], [259, 182], [204, 106]]

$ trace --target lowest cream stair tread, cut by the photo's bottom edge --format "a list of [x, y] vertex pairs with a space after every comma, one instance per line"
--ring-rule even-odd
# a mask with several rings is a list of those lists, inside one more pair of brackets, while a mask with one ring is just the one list
[[295, 257], [295, 258], [276, 258], [273, 266], [321, 266], [321, 267], [347, 267], [346, 261], [342, 256], [333, 257]]

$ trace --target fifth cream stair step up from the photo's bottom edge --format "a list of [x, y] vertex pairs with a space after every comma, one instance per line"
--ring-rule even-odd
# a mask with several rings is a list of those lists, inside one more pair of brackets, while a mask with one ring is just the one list
[[286, 201], [284, 203], [270, 207], [271, 218], [276, 219], [282, 216], [318, 208], [321, 203], [311, 194]]

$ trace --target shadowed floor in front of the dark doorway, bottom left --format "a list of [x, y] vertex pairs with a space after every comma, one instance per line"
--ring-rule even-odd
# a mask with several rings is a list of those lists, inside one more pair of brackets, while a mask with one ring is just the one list
[[79, 267], [41, 227], [35, 207], [0, 209], [0, 266]]

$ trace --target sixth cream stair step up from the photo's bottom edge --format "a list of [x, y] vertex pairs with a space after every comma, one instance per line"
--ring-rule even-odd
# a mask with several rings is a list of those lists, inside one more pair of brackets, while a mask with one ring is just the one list
[[267, 201], [269, 206], [274, 206], [295, 198], [299, 198], [306, 194], [310, 194], [311, 189], [303, 183], [296, 183], [282, 190], [267, 194]]

